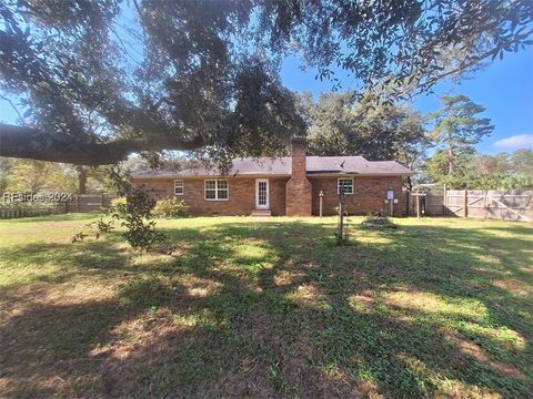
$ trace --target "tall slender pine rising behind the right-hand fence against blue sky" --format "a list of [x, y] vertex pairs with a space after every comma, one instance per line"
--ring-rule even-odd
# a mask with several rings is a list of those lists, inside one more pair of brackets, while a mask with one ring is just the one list
[[452, 176], [457, 158], [473, 153], [474, 145], [489, 135], [494, 126], [490, 119], [479, 116], [485, 109], [466, 95], [443, 95], [441, 100], [442, 109], [428, 116], [434, 123], [430, 137], [438, 147], [445, 149], [447, 174]]

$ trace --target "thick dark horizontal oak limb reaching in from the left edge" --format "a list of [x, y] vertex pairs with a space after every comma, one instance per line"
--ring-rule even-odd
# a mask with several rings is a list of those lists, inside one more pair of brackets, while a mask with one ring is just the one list
[[63, 162], [74, 165], [109, 165], [139, 151], [195, 150], [202, 137], [183, 141], [114, 140], [107, 143], [72, 141], [37, 129], [0, 124], [0, 156]]

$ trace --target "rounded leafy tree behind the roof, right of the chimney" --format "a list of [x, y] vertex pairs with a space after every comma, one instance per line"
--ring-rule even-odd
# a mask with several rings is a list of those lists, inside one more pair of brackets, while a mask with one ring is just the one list
[[311, 154], [396, 158], [412, 166], [426, 142], [422, 115], [398, 103], [376, 104], [370, 96], [322, 93], [316, 103], [305, 96]]

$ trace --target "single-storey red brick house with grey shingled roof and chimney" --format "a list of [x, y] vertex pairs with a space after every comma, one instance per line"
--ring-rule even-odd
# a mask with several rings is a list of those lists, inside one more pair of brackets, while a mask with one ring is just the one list
[[292, 143], [292, 156], [240, 158], [227, 175], [217, 168], [137, 171], [133, 186], [155, 200], [179, 197], [192, 215], [288, 215], [335, 213], [339, 190], [349, 214], [404, 213], [402, 177], [412, 172], [395, 161], [362, 156], [306, 156], [305, 143]]

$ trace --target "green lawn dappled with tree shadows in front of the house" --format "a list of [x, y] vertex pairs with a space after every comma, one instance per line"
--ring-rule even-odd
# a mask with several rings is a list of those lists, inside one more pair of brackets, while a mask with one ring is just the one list
[[177, 253], [91, 216], [0, 222], [2, 397], [527, 397], [533, 226], [161, 221]]

